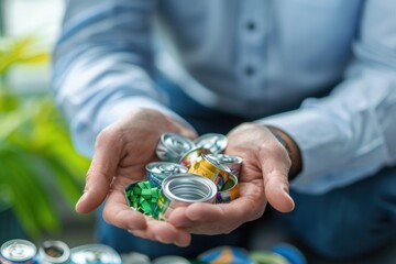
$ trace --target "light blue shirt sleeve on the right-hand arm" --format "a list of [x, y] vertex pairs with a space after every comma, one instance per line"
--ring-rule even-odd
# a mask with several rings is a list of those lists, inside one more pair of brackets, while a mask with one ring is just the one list
[[283, 129], [299, 145], [302, 172], [292, 183], [296, 190], [324, 193], [395, 165], [395, 10], [392, 0], [366, 1], [353, 62], [328, 97], [258, 120]]

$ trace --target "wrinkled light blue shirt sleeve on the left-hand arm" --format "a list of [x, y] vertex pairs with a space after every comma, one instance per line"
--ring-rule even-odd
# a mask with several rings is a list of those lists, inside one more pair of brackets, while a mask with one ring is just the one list
[[152, 14], [155, 1], [68, 0], [53, 53], [55, 99], [69, 121], [79, 152], [94, 153], [95, 139], [131, 109], [165, 107], [152, 80]]

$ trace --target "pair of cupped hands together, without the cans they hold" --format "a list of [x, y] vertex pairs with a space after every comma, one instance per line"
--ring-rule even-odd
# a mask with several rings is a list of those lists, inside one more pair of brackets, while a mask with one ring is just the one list
[[145, 164], [156, 160], [155, 147], [163, 132], [194, 139], [196, 134], [176, 121], [153, 110], [140, 109], [103, 130], [96, 142], [87, 173], [84, 195], [76, 210], [86, 213], [106, 199], [103, 219], [134, 235], [186, 246], [191, 233], [229, 233], [246, 221], [260, 218], [267, 200], [279, 211], [290, 211], [288, 195], [292, 162], [286, 148], [263, 125], [245, 123], [228, 134], [226, 153], [243, 158], [241, 197], [230, 204], [194, 204], [175, 209], [167, 222], [131, 210], [124, 188], [143, 179]]

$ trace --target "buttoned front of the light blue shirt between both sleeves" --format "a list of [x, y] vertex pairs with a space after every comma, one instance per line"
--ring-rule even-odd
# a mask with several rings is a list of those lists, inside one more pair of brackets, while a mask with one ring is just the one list
[[165, 50], [177, 58], [163, 69], [210, 107], [245, 117], [290, 110], [342, 79], [362, 3], [158, 1], [174, 47]]

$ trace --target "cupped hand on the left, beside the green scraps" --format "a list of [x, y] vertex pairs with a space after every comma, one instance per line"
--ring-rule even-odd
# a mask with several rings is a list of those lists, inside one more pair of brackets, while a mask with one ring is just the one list
[[103, 219], [107, 222], [141, 238], [188, 245], [190, 234], [186, 230], [132, 210], [124, 197], [124, 188], [143, 179], [145, 165], [156, 160], [155, 148], [164, 132], [196, 138], [195, 132], [148, 109], [135, 110], [105, 129], [97, 138], [84, 195], [76, 211], [90, 212], [106, 199]]

